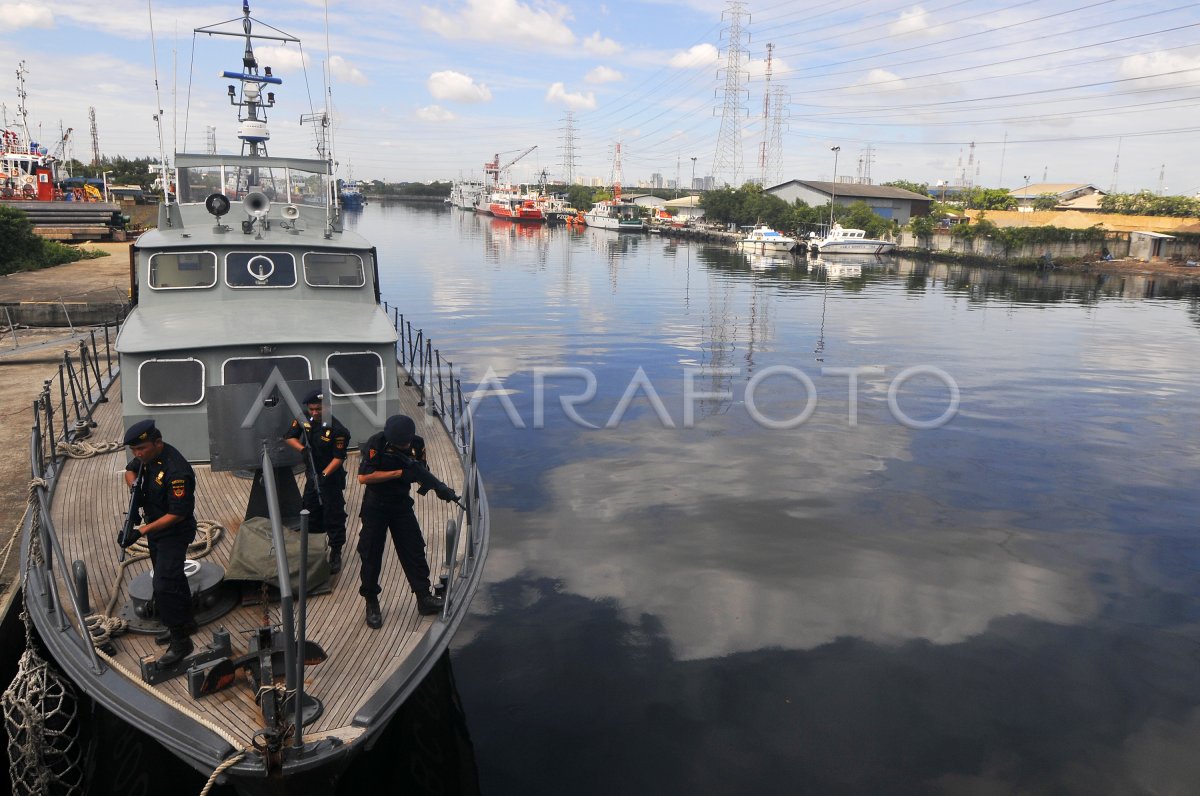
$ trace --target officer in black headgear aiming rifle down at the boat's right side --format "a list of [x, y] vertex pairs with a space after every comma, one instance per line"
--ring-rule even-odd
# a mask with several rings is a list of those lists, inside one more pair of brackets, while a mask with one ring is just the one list
[[384, 430], [373, 435], [359, 465], [362, 495], [362, 529], [359, 532], [359, 594], [366, 598], [367, 627], [383, 627], [379, 610], [379, 570], [383, 551], [391, 532], [404, 577], [416, 595], [416, 610], [422, 616], [442, 610], [443, 599], [430, 593], [430, 563], [425, 558], [425, 538], [413, 511], [408, 487], [416, 483], [421, 492], [433, 492], [446, 502], [458, 499], [455, 491], [434, 478], [424, 466], [425, 441], [416, 435], [413, 419], [395, 414], [388, 418]]

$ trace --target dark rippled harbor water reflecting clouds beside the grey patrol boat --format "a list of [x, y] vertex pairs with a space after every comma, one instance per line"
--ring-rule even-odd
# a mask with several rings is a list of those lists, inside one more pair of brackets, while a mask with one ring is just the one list
[[1195, 286], [348, 225], [474, 394], [492, 547], [340, 792], [1195, 792]]

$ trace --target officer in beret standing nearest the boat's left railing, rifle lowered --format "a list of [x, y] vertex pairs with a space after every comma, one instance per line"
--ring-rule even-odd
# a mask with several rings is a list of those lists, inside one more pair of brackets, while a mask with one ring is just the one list
[[154, 602], [170, 644], [157, 660], [166, 669], [194, 648], [191, 635], [197, 628], [184, 562], [196, 539], [196, 473], [181, 453], [162, 441], [152, 419], [130, 426], [124, 442], [133, 454], [125, 467], [125, 483], [137, 490], [144, 521], [126, 545], [140, 534], [150, 546]]

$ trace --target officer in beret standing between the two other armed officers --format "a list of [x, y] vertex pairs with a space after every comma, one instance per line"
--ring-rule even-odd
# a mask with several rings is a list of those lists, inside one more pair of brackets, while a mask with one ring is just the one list
[[[329, 541], [329, 571], [337, 574], [342, 569], [342, 545], [346, 544], [346, 461], [350, 432], [330, 413], [329, 420], [322, 420], [325, 395], [313, 390], [305, 396], [304, 403], [308, 417], [293, 420], [283, 437], [290, 448], [305, 456], [304, 508], [308, 509], [308, 532], [325, 533]], [[305, 447], [312, 451], [312, 461], [307, 461]], [[313, 477], [312, 471], [317, 474]]]

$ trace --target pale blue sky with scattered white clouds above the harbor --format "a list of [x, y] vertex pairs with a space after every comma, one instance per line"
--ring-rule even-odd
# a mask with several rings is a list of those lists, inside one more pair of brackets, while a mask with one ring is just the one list
[[[89, 108], [103, 155], [157, 157], [160, 108], [168, 157], [204, 151], [209, 128], [218, 150], [240, 149], [218, 73], [240, 70], [241, 43], [193, 34], [240, 24], [239, 0], [0, 11], [5, 119], [24, 62], [29, 125], [49, 149], [71, 128], [64, 150], [91, 160]], [[301, 116], [331, 107], [342, 176], [470, 179], [535, 146], [508, 178], [559, 180], [570, 142], [576, 181], [628, 186], [1200, 193], [1200, 2], [252, 0], [251, 16], [256, 32], [301, 42], [256, 43], [283, 79], [270, 154], [314, 156]]]

